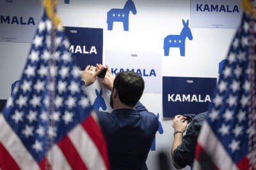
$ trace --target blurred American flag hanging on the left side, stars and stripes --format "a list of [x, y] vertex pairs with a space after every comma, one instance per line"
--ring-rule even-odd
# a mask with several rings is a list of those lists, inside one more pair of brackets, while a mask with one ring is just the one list
[[52, 27], [44, 12], [20, 83], [0, 114], [0, 169], [109, 169], [106, 141], [61, 25], [51, 55]]

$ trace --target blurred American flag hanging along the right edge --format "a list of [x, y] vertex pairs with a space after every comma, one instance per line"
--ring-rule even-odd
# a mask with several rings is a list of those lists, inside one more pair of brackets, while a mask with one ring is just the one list
[[193, 169], [253, 169], [255, 166], [255, 155], [252, 155], [255, 154], [256, 138], [252, 140], [255, 122], [249, 125], [250, 119], [256, 120], [249, 111], [250, 75], [254, 73], [255, 77], [255, 68], [252, 70], [249, 65], [249, 56], [255, 52], [255, 43], [249, 41], [255, 38], [253, 24], [256, 25], [255, 19], [250, 23], [250, 15], [244, 13], [198, 136]]

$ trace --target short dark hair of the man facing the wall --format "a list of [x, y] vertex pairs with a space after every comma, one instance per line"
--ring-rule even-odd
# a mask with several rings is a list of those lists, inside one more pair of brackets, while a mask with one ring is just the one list
[[134, 71], [122, 71], [116, 74], [113, 89], [122, 103], [134, 107], [143, 94], [144, 80]]

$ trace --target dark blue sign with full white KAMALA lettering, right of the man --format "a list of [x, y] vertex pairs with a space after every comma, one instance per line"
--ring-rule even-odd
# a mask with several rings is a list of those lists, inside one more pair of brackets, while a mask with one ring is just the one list
[[163, 117], [207, 111], [215, 87], [216, 78], [163, 76]]

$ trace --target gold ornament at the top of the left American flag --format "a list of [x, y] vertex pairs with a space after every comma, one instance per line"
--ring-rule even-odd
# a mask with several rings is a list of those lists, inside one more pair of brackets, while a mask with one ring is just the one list
[[[57, 4], [58, 4], [58, 0], [53, 0], [53, 3], [52, 3], [52, 0], [44, 0], [44, 2], [43, 2], [43, 5], [45, 6], [46, 14], [52, 20], [52, 22], [56, 28], [60, 24], [60, 18], [58, 17], [58, 15], [56, 15], [55, 11], [52, 11], [52, 9], [55, 9], [52, 7], [56, 7]], [[52, 18], [52, 16], [53, 16], [53, 18]]]

